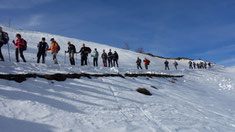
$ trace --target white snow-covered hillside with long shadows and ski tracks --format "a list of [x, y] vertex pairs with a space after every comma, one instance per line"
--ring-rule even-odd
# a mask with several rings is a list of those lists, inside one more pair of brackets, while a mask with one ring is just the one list
[[[46, 33], [3, 27], [15, 39], [21, 33], [28, 42], [24, 52], [27, 63], [15, 62], [14, 45], [2, 48], [5, 62], [0, 74], [54, 73], [158, 73], [184, 75], [182, 78], [100, 77], [66, 79], [66, 81], [29, 78], [22, 83], [0, 79], [1, 132], [234, 132], [235, 67], [214, 65], [211, 69], [188, 69], [188, 60], [178, 61], [164, 70], [164, 59], [154, 58], [107, 45], [86, 42]], [[53, 64], [48, 52], [46, 64], [36, 63], [37, 44], [42, 37], [60, 44], [59, 64]], [[79, 36], [78, 36], [79, 37]], [[81, 67], [64, 63], [67, 42], [77, 50], [85, 43], [101, 54], [111, 48], [119, 53], [120, 68], [103, 68], [91, 64]], [[137, 70], [136, 58], [151, 60], [150, 69]], [[199, 60], [198, 60], [199, 61]], [[144, 68], [144, 66], [142, 65]], [[152, 96], [140, 94], [146, 88]]]

